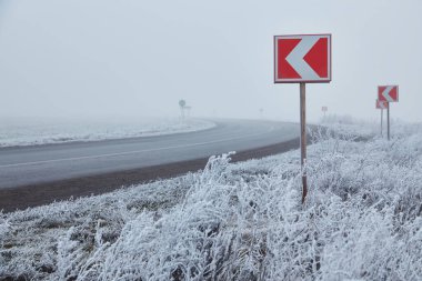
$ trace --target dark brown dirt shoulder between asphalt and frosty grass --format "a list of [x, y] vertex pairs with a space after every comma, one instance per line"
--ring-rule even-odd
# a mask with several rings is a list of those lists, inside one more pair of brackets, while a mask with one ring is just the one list
[[[263, 158], [298, 149], [299, 138], [251, 150], [239, 151], [232, 155], [232, 162]], [[142, 184], [160, 179], [170, 179], [188, 172], [195, 172], [205, 167], [209, 158], [200, 158], [160, 165], [152, 165], [125, 171], [100, 173], [66, 179], [47, 183], [22, 185], [0, 190], [0, 210], [12, 212], [49, 204], [54, 201], [98, 195], [113, 190]]]

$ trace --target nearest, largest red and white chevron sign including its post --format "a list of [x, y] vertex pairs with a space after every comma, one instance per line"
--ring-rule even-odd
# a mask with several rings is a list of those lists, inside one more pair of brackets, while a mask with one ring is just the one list
[[274, 83], [299, 83], [302, 203], [307, 180], [307, 83], [331, 81], [331, 34], [274, 37]]

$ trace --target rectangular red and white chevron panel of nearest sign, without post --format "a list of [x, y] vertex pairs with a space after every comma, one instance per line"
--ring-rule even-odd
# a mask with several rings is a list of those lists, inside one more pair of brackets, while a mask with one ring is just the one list
[[331, 81], [331, 34], [275, 36], [274, 82]]

